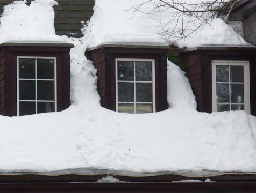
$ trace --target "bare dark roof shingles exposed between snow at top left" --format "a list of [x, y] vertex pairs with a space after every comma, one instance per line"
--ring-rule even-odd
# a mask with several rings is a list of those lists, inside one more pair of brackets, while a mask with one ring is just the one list
[[[5, 5], [14, 0], [0, 0], [0, 14]], [[56, 0], [59, 5], [54, 5], [54, 27], [57, 35], [69, 37], [82, 37], [81, 28], [93, 15], [94, 0]], [[31, 0], [27, 0], [27, 5]], [[81, 21], [83, 21], [81, 23]]]

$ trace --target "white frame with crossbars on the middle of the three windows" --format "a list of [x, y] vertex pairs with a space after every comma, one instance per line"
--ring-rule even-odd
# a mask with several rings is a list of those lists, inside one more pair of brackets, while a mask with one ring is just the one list
[[[135, 81], [135, 80], [131, 81], [134, 83], [134, 102], [124, 102], [124, 103], [134, 104], [134, 114], [136, 114], [136, 103], [143, 103], [143, 104], [152, 103], [152, 107], [153, 107], [152, 113], [155, 113], [155, 60], [154, 59], [138, 59], [138, 58], [116, 58], [116, 112], [118, 112], [118, 82], [123, 82], [122, 80], [118, 80], [118, 75], [117, 75], [118, 61], [152, 62], [152, 81]], [[134, 78], [135, 78], [135, 63], [134, 63]], [[152, 83], [152, 102], [136, 102], [136, 83]]]

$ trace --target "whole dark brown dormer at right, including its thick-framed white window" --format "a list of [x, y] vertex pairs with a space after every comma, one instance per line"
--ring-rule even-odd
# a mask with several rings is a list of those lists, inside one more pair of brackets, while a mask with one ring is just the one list
[[256, 115], [255, 46], [200, 46], [180, 50], [197, 110], [245, 110]]

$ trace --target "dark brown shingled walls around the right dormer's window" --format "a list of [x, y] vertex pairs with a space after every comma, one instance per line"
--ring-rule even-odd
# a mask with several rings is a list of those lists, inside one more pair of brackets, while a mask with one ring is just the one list
[[197, 47], [181, 50], [187, 77], [196, 96], [197, 110], [212, 113], [212, 61], [249, 61], [250, 107], [256, 115], [256, 48], [255, 47]]

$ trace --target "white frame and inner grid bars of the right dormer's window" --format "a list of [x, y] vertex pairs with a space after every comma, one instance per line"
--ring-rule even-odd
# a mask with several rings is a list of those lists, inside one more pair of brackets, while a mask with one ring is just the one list
[[[229, 81], [217, 81], [216, 68], [217, 66], [229, 66]], [[244, 70], [244, 82], [231, 82], [231, 66], [243, 66]], [[245, 112], [250, 114], [250, 80], [249, 80], [249, 61], [212, 61], [212, 111], [217, 112], [217, 104], [219, 105], [229, 105], [231, 110], [231, 105], [244, 105]], [[229, 103], [218, 102], [217, 103], [217, 84], [224, 83], [229, 84]], [[231, 84], [242, 84], [244, 85], [244, 102], [234, 103], [231, 102]]]

